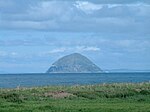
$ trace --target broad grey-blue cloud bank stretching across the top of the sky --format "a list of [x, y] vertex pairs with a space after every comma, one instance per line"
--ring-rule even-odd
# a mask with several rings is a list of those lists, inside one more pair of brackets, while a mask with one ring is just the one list
[[[12, 6], [1, 9], [0, 29], [149, 33], [150, 5], [147, 2], [15, 1], [11, 1]], [[14, 7], [20, 10], [17, 12]]]

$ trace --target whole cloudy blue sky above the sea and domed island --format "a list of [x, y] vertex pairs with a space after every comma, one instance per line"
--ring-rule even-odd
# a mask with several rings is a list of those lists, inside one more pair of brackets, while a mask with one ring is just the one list
[[101, 69], [150, 69], [150, 0], [0, 0], [0, 72], [44, 73], [81, 53]]

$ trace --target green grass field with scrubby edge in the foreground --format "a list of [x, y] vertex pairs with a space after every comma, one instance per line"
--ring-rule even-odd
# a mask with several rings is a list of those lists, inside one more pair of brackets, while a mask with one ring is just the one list
[[150, 83], [1, 89], [0, 112], [150, 112]]

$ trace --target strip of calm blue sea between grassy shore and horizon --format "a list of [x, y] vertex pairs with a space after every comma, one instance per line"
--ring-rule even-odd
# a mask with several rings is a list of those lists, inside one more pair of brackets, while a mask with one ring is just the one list
[[147, 73], [99, 73], [99, 74], [0, 74], [0, 88], [16, 88], [46, 85], [83, 85], [120, 82], [148, 82]]

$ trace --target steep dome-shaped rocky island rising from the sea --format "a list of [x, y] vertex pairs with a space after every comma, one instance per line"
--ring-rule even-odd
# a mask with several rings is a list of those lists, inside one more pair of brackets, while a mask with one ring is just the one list
[[52, 64], [47, 73], [100, 73], [102, 70], [85, 56], [74, 53]]

